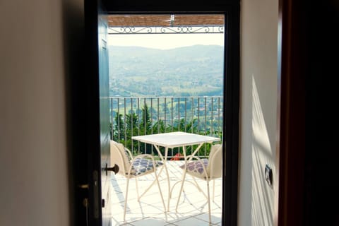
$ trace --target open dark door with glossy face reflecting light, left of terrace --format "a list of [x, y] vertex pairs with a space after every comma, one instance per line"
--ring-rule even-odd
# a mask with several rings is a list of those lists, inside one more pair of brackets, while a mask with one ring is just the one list
[[[85, 73], [86, 137], [88, 156], [88, 225], [110, 225], [103, 220], [109, 210], [109, 179], [105, 165], [109, 160], [109, 78], [106, 47], [107, 23], [100, 0], [85, 0]], [[108, 184], [107, 184], [108, 183]], [[105, 216], [107, 214], [105, 213]]]

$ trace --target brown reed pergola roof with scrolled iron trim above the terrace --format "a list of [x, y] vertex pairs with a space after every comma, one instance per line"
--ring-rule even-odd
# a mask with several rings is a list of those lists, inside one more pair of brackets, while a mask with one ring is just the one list
[[223, 33], [222, 14], [108, 15], [109, 34]]

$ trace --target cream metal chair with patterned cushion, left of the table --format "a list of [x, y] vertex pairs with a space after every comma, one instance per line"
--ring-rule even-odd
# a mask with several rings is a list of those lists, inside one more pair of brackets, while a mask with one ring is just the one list
[[154, 157], [148, 154], [137, 155], [133, 157], [131, 151], [128, 148], [125, 148], [122, 143], [117, 143], [111, 140], [110, 145], [111, 145], [111, 164], [117, 165], [119, 167], [119, 171], [117, 172], [117, 174], [121, 174], [127, 179], [126, 197], [124, 205], [124, 220], [126, 217], [126, 206], [129, 195], [129, 180], [133, 178], [136, 179], [136, 193], [138, 196], [138, 201], [140, 201], [140, 198], [150, 189], [152, 185], [149, 186], [148, 189], [146, 189], [141, 196], [139, 196], [138, 177], [142, 177], [145, 176], [146, 174], [151, 173], [154, 173], [155, 180], [159, 188], [159, 194], [162, 199], [162, 204], [164, 206], [165, 210], [164, 213], [166, 215], [167, 213], [165, 208], [165, 201], [162, 196], [162, 191], [160, 189], [160, 184], [156, 173], [157, 167], [162, 166], [163, 163], [161, 161], [154, 160]]

